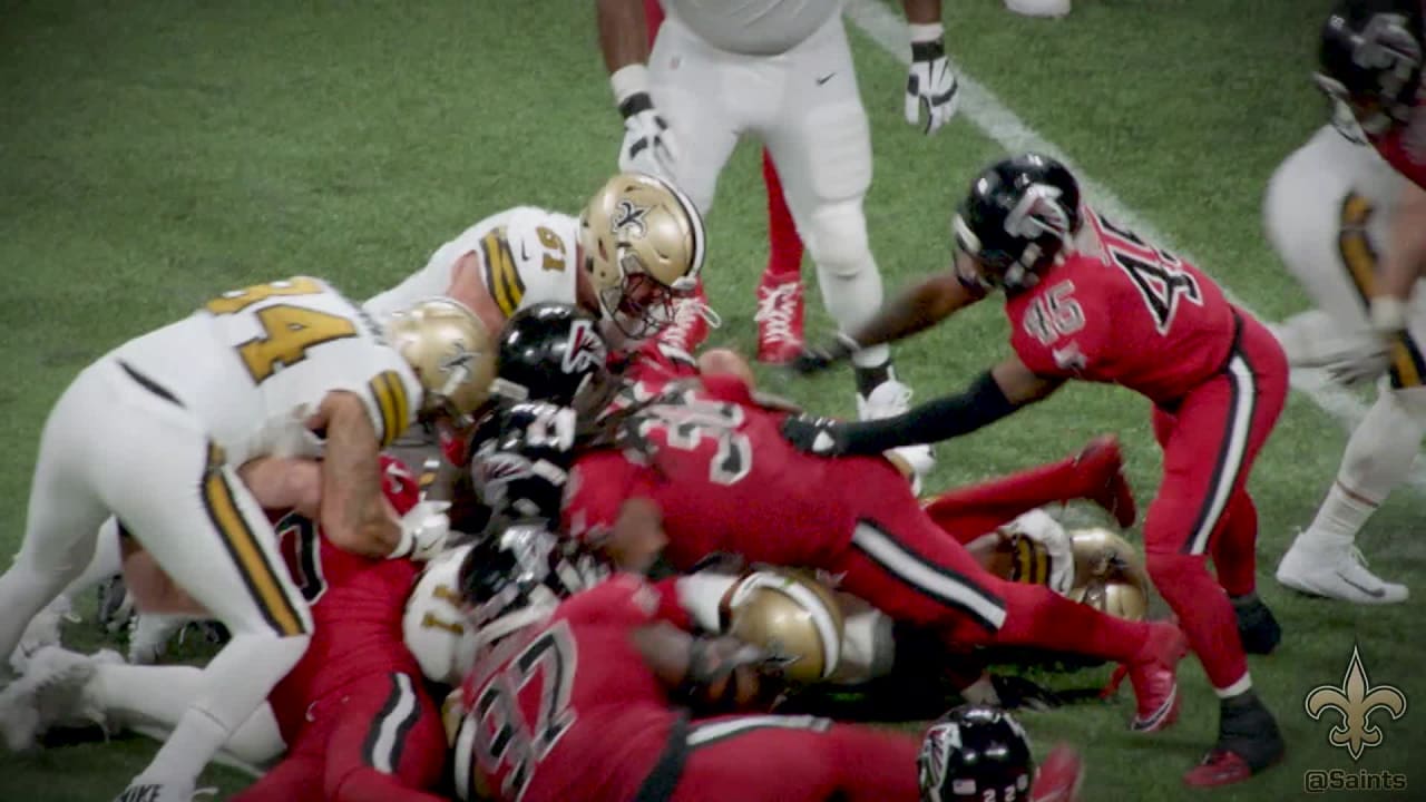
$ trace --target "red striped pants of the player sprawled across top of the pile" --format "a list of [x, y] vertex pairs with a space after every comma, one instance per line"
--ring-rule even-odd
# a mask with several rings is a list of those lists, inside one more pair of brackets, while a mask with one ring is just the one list
[[850, 542], [807, 559], [840, 574], [838, 589], [896, 621], [935, 629], [951, 648], [1018, 645], [1125, 662], [1144, 645], [1149, 632], [1144, 622], [990, 574], [921, 509], [896, 468], [867, 471], [866, 464], [850, 462], [854, 492], [873, 509], [864, 511]]

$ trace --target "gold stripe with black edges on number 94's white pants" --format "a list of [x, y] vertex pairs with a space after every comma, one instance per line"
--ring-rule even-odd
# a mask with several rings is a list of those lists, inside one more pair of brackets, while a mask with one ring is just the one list
[[232, 564], [238, 567], [242, 582], [248, 592], [258, 602], [262, 618], [274, 631], [284, 636], [301, 635], [307, 631], [297, 606], [282, 589], [278, 574], [267, 561], [267, 555], [258, 545], [257, 535], [248, 527], [247, 519], [238, 508], [238, 501], [232, 495], [228, 478], [221, 469], [222, 450], [215, 444], [208, 445], [208, 467], [202, 478], [202, 504], [208, 509], [222, 542], [228, 547]]

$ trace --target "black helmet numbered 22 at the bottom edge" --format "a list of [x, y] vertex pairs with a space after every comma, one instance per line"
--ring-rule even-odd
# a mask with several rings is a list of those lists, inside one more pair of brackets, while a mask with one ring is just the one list
[[1010, 714], [961, 705], [925, 734], [917, 756], [923, 802], [1030, 799], [1030, 739]]

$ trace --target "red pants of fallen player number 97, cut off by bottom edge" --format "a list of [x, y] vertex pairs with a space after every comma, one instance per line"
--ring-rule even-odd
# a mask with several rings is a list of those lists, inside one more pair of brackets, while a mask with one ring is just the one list
[[672, 802], [917, 802], [921, 739], [813, 716], [692, 722]]

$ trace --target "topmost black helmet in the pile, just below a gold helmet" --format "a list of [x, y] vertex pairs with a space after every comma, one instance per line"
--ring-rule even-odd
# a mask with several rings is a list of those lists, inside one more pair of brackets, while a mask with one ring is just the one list
[[535, 304], [505, 323], [491, 385], [496, 395], [590, 412], [602, 410], [616, 384], [609, 344], [579, 307]]

